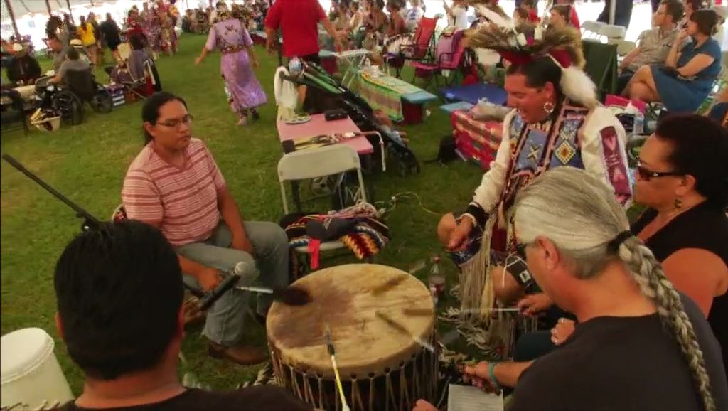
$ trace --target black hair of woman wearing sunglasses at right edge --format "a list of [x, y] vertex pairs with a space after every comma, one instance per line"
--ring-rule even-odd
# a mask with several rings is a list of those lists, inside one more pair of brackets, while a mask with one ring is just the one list
[[668, 163], [695, 177], [695, 189], [721, 208], [728, 206], [728, 130], [698, 114], [665, 117], [654, 131], [672, 146]]

